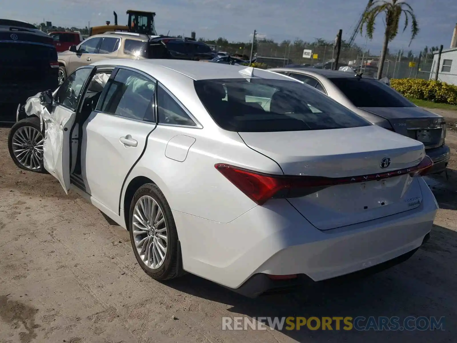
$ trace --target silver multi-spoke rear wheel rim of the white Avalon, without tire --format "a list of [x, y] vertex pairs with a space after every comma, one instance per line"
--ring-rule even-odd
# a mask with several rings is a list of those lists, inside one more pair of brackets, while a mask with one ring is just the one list
[[133, 209], [133, 240], [143, 264], [159, 268], [165, 261], [168, 230], [159, 204], [149, 195], [139, 198]]

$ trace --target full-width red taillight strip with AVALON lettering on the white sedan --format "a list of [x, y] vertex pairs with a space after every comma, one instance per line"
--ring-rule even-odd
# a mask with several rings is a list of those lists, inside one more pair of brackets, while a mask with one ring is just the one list
[[223, 176], [232, 182], [241, 192], [246, 194], [258, 205], [263, 205], [271, 198], [296, 198], [316, 193], [324, 188], [348, 183], [376, 181], [389, 177], [409, 174], [410, 176], [423, 175], [433, 161], [425, 156], [417, 166], [387, 171], [383, 173], [358, 175], [352, 177], [319, 177], [319, 176], [289, 176], [272, 175], [230, 166], [224, 163], [215, 165]]

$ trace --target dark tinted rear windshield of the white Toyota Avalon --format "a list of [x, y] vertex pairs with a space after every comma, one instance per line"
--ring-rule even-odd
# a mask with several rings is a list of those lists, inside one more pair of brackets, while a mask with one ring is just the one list
[[235, 132], [342, 129], [371, 123], [301, 83], [269, 79], [196, 80], [213, 120]]

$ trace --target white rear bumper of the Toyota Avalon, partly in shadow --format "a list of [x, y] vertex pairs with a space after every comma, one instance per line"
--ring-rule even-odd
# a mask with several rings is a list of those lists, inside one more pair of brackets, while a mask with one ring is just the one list
[[227, 224], [174, 211], [183, 268], [256, 296], [273, 284], [298, 281], [266, 282], [268, 275], [321, 281], [377, 266], [413, 252], [430, 232], [438, 205], [425, 181], [419, 183], [418, 208], [326, 231], [285, 199], [270, 200]]

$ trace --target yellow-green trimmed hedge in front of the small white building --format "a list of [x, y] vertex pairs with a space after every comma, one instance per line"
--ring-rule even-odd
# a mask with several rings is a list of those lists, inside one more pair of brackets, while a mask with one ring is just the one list
[[390, 86], [407, 98], [457, 105], [457, 86], [422, 79], [391, 79]]

